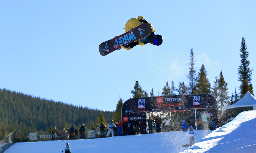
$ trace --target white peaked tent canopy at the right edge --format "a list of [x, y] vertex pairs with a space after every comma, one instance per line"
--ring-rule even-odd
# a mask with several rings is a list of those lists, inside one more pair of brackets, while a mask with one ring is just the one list
[[241, 98], [238, 102], [234, 103], [233, 105], [229, 106], [222, 106], [221, 107], [221, 114], [223, 111], [231, 108], [238, 108], [238, 107], [253, 107], [253, 110], [256, 110], [256, 98], [248, 91], [243, 98]]

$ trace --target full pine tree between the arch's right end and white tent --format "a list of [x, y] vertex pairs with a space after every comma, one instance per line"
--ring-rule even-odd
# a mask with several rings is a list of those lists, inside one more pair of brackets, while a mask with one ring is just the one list
[[223, 78], [222, 71], [220, 71], [218, 81], [218, 101], [219, 106], [224, 106], [225, 104], [229, 104], [229, 96], [228, 96], [228, 83]]

